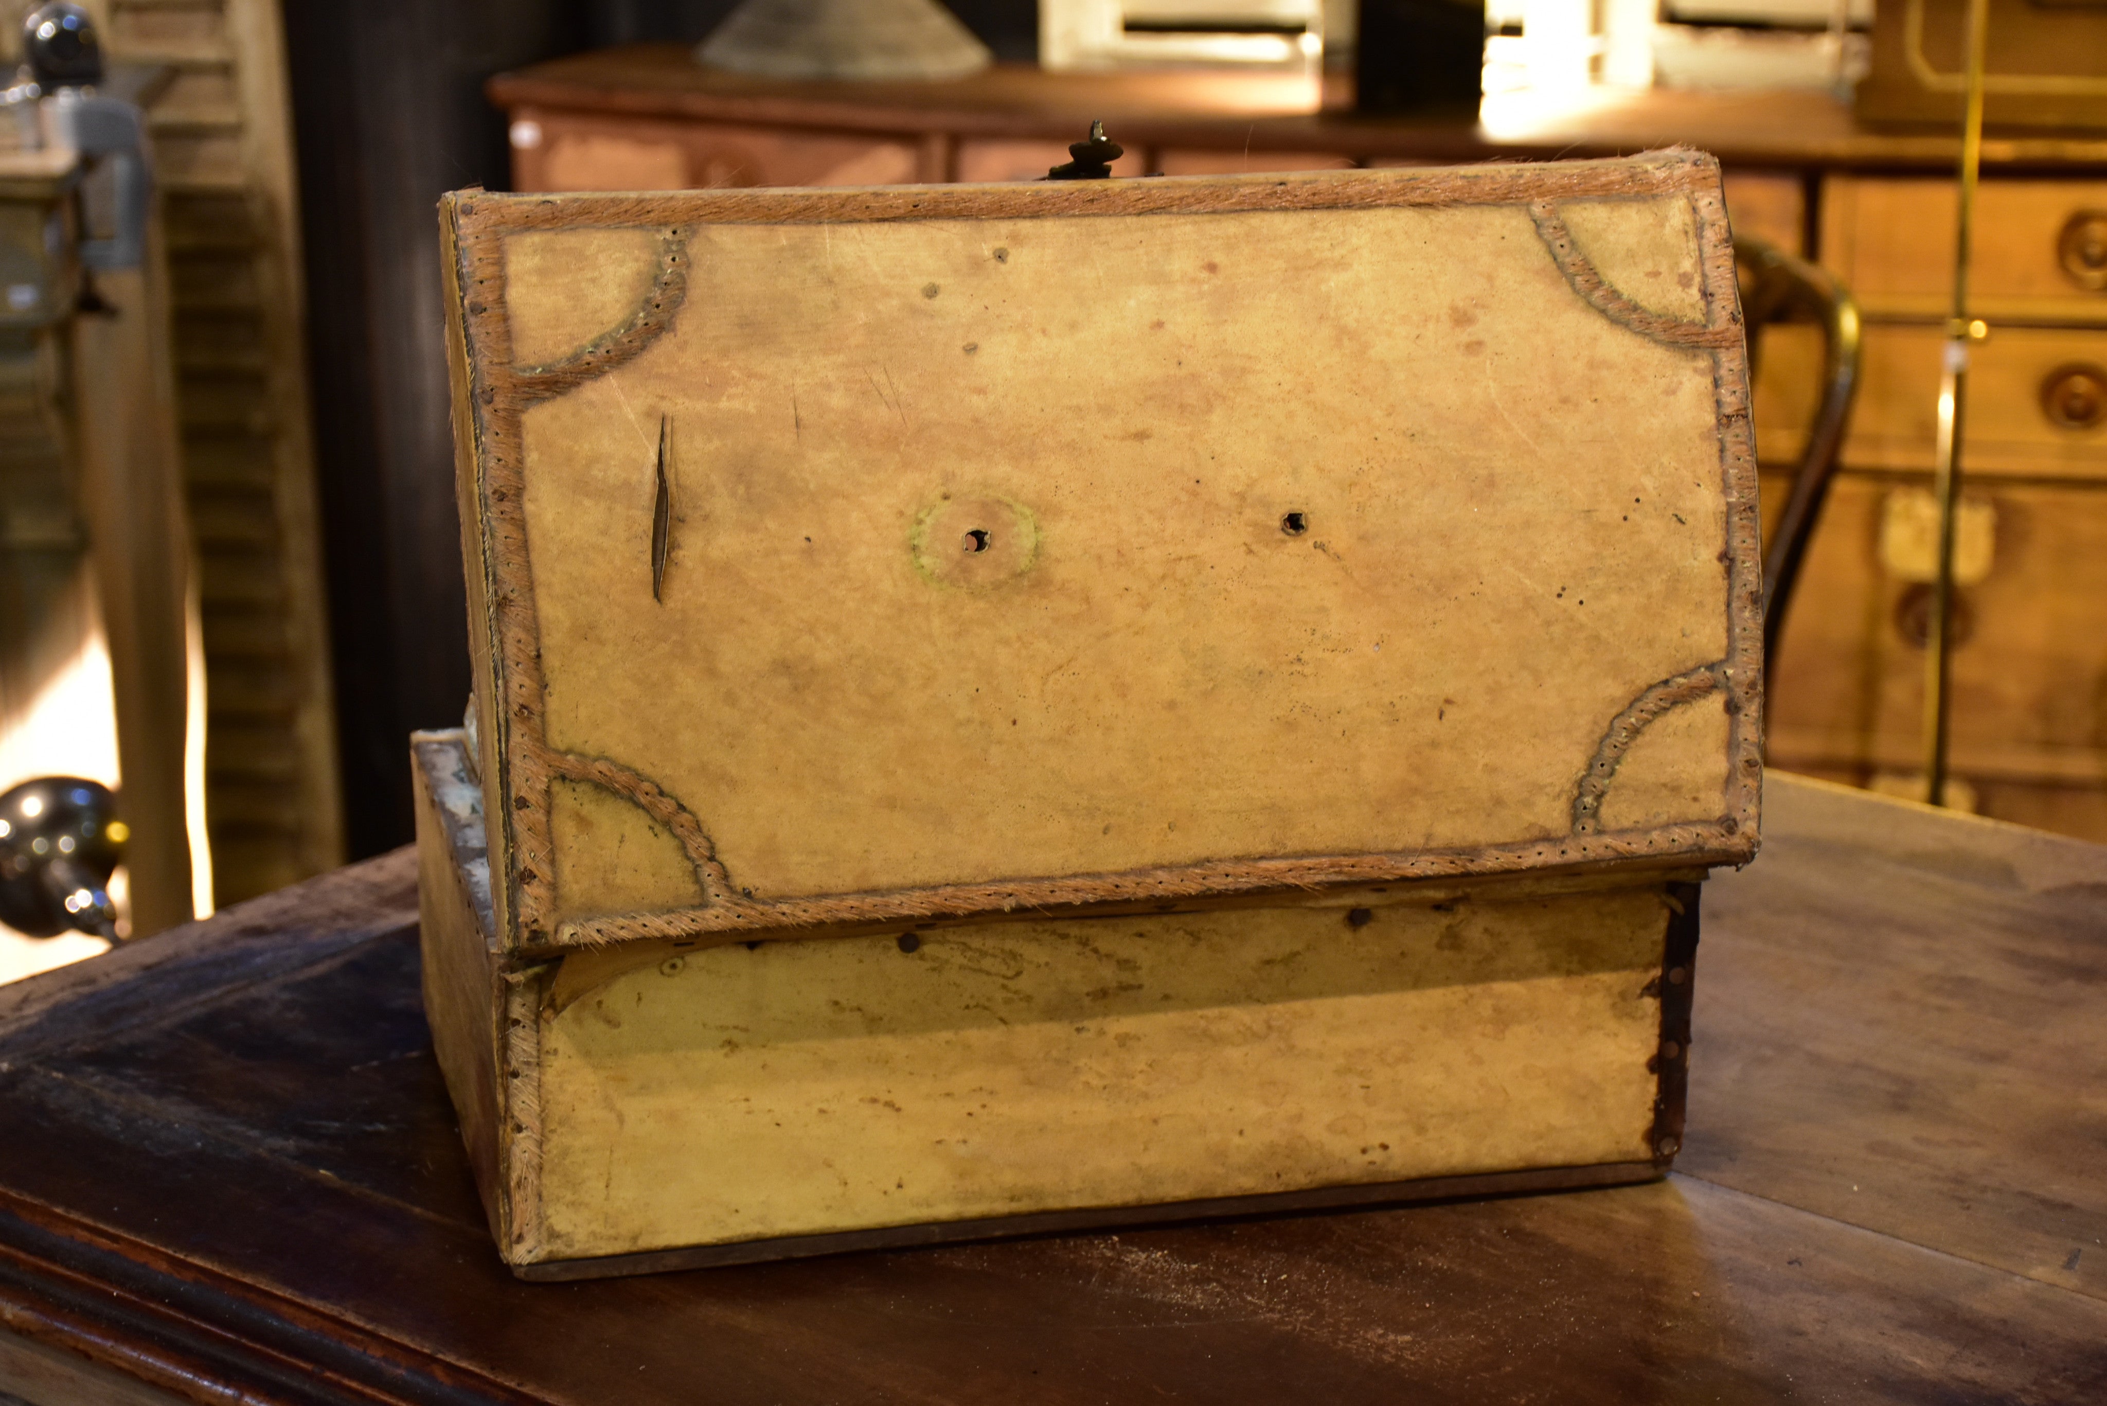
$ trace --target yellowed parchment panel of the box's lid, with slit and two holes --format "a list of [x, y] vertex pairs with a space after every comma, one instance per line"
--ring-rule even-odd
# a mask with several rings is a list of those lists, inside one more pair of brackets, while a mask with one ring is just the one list
[[[1702, 318], [1688, 196], [1559, 213]], [[510, 240], [544, 356], [607, 331], [582, 287], [649, 282], [647, 240]], [[1618, 710], [1728, 651], [1713, 354], [1587, 306], [1523, 204], [700, 226], [687, 257], [657, 341], [525, 411], [525, 523], [548, 744], [676, 797], [733, 890], [1566, 835]], [[1606, 820], [1721, 816], [1705, 712]]]

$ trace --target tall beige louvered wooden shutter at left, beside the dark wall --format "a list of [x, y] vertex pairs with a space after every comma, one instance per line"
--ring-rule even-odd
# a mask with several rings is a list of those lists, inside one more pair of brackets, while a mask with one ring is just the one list
[[[29, 8], [27, 0], [0, 4], [8, 61], [19, 59], [19, 21]], [[343, 860], [278, 4], [99, 0], [86, 8], [114, 70], [156, 76], [141, 101], [160, 215], [154, 259], [166, 268], [166, 287], [154, 293], [154, 316], [166, 327], [166, 390], [164, 422], [139, 430], [137, 443], [166, 455], [175, 531], [196, 573], [202, 774], [192, 801], [202, 812], [198, 850], [211, 862], [198, 900], [211, 911], [215, 900], [249, 898]], [[122, 299], [105, 301], [124, 312]], [[93, 333], [105, 323], [82, 327]], [[122, 379], [107, 363], [114, 354], [78, 350], [72, 365], [91, 396], [116, 394], [103, 390]], [[80, 424], [114, 428], [110, 413], [126, 405], [118, 396], [101, 411], [82, 407]], [[86, 495], [91, 510], [97, 497]], [[137, 569], [166, 594], [166, 571], [145, 561]], [[183, 586], [173, 588], [181, 609]], [[164, 634], [154, 628], [141, 639]], [[175, 647], [183, 649], [181, 634]], [[118, 649], [120, 668], [122, 658]], [[34, 704], [36, 672], [17, 681]], [[126, 691], [118, 689], [120, 706]], [[21, 769], [65, 767], [23, 759]], [[145, 761], [124, 763], [124, 809], [135, 818], [154, 805], [147, 772]], [[152, 824], [139, 828], [131, 871], [152, 862], [150, 833]], [[145, 896], [131, 877], [135, 898]], [[188, 915], [185, 900], [179, 917]]]

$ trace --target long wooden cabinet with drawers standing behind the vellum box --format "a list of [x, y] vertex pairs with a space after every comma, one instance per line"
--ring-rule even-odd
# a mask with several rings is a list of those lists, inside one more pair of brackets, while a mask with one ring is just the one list
[[[1306, 112], [1306, 89], [1264, 78], [997, 67], [957, 84], [780, 84], [708, 74], [676, 46], [558, 59], [491, 95], [514, 118], [520, 190], [1037, 179], [1091, 118], [1127, 145], [1117, 175], [1711, 150], [1736, 230], [1831, 268], [1867, 318], [1770, 757], [1911, 786], [1928, 588], [1898, 544], [1932, 470], [1955, 139], [1873, 133], [1816, 93], [1646, 93], [1566, 114], [1496, 99], [1473, 129]], [[1985, 143], [1974, 304], [1991, 331], [1964, 468], [1985, 546], [1962, 586], [1953, 765], [1985, 814], [2107, 839], [2107, 141]], [[1804, 445], [1818, 360], [1812, 327], [1766, 329], [1755, 422], [1776, 470]]]

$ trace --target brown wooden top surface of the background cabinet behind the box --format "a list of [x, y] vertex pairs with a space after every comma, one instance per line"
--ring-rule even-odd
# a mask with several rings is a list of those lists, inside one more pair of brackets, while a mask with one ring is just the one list
[[[1951, 173], [1960, 135], [1875, 131], [1818, 91], [1591, 89], [1547, 101], [1488, 99], [1477, 124], [1361, 116], [1351, 84], [1220, 72], [1047, 74], [999, 63], [950, 82], [811, 82], [706, 70], [687, 44], [628, 44], [550, 59], [489, 82], [506, 110], [748, 122], [912, 137], [1077, 141], [1104, 118], [1131, 148], [1319, 152], [1355, 160], [1549, 160], [1694, 145], [1730, 167], [1856, 167]], [[2107, 169], [2107, 135], [1993, 131], [1987, 171]]]

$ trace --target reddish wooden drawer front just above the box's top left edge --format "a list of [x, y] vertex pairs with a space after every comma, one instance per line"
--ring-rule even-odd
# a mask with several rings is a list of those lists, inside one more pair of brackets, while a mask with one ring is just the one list
[[531, 108], [514, 114], [510, 137], [514, 190], [893, 185], [919, 175], [917, 145], [881, 137]]

